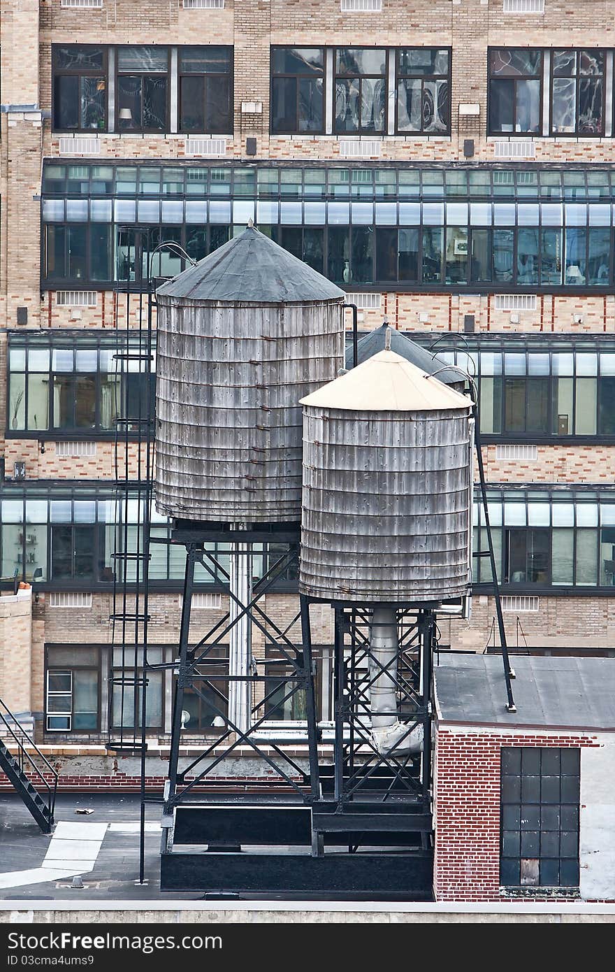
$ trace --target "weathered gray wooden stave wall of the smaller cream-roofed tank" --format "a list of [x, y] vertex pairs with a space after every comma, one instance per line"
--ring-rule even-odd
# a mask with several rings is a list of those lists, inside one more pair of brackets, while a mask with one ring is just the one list
[[351, 602], [437, 602], [468, 591], [469, 408], [304, 407], [299, 590]]

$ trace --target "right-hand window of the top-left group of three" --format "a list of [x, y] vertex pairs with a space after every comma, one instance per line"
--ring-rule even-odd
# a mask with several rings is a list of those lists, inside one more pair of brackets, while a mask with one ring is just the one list
[[231, 132], [232, 48], [180, 48], [180, 128]]

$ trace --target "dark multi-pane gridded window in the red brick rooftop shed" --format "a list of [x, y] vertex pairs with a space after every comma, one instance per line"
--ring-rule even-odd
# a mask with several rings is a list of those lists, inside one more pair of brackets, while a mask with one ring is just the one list
[[579, 885], [580, 757], [578, 748], [502, 748], [500, 885]]

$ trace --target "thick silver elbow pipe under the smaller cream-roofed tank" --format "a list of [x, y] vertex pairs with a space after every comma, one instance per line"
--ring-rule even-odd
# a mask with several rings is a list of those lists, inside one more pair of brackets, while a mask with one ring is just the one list
[[409, 730], [410, 723], [401, 722], [397, 714], [397, 616], [395, 608], [382, 605], [374, 608], [371, 618], [369, 649], [369, 698], [371, 710], [371, 739], [381, 755], [393, 749], [399, 756], [420, 752], [423, 745], [423, 726]]

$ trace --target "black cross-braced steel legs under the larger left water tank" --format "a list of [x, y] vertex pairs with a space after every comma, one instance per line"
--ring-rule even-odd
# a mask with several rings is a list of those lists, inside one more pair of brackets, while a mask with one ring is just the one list
[[[275, 645], [281, 652], [282, 660], [288, 665], [290, 672], [285, 674], [284, 681], [290, 687], [285, 689], [282, 703], [289, 701], [298, 692], [305, 693], [308, 712], [316, 711], [314, 694], [314, 666], [312, 660], [311, 641], [297, 643], [290, 637], [290, 629], [300, 622], [302, 637], [305, 636], [305, 620], [302, 609], [293, 617], [290, 625], [282, 629], [261, 607], [262, 598], [291, 565], [298, 559], [298, 527], [291, 525], [290, 530], [281, 532], [261, 530], [242, 530], [235, 532], [228, 529], [227, 524], [215, 525], [212, 528], [205, 525], [191, 524], [188, 529], [182, 524], [172, 531], [170, 542], [186, 547], [186, 573], [184, 580], [184, 601], [182, 605], [182, 621], [179, 638], [179, 658], [173, 668], [177, 672], [175, 697], [173, 705], [173, 725], [171, 733], [171, 748], [169, 755], [169, 783], [165, 794], [165, 814], [171, 815], [175, 807], [192, 802], [195, 797], [195, 787], [215, 787], [215, 770], [222, 761], [237, 749], [238, 746], [250, 746], [256, 756], [263, 760], [273, 770], [277, 782], [284, 795], [301, 803], [310, 802], [317, 794], [314, 787], [306, 783], [305, 770], [302, 769], [281, 746], [269, 739], [258, 735], [266, 728], [266, 704], [274, 695], [274, 690], [267, 691], [268, 677], [266, 675], [266, 661], [255, 658], [249, 670], [243, 675], [214, 674], [208, 672], [208, 663], [214, 661], [212, 652], [221, 646], [230, 633], [247, 619], [253, 630], [259, 632], [265, 645]], [[231, 576], [222, 564], [221, 555], [207, 549], [209, 543], [234, 543], [234, 555], [237, 557], [253, 556], [253, 544], [266, 540], [281, 539], [290, 542], [290, 549], [282, 554], [276, 562], [263, 573], [254, 584], [252, 597], [244, 603], [232, 588]], [[152, 538], [152, 542], [169, 542], [163, 538]], [[189, 627], [194, 594], [194, 568], [202, 566], [216, 583], [216, 590], [225, 593], [233, 610], [226, 610], [222, 618], [213, 625], [198, 642], [190, 643]], [[222, 581], [221, 581], [222, 578]], [[220, 659], [215, 662], [220, 665]], [[166, 666], [169, 667], [169, 666]], [[222, 685], [221, 685], [222, 683]], [[250, 693], [251, 712], [249, 725], [236, 725], [229, 717], [228, 696], [224, 695], [223, 683], [235, 683]], [[257, 686], [263, 687], [262, 697], [254, 699]], [[182, 747], [182, 712], [184, 711], [184, 694], [191, 688], [203, 701], [221, 717], [224, 722], [222, 735], [211, 744], [206, 744], [203, 750], [193, 758], [188, 765], [180, 768]], [[209, 689], [218, 702], [212, 703], [211, 695], [207, 697], [205, 690]], [[277, 702], [277, 705], [282, 704]], [[309, 754], [310, 760], [318, 762], [315, 719], [308, 720]], [[201, 797], [199, 796], [199, 799]]]

